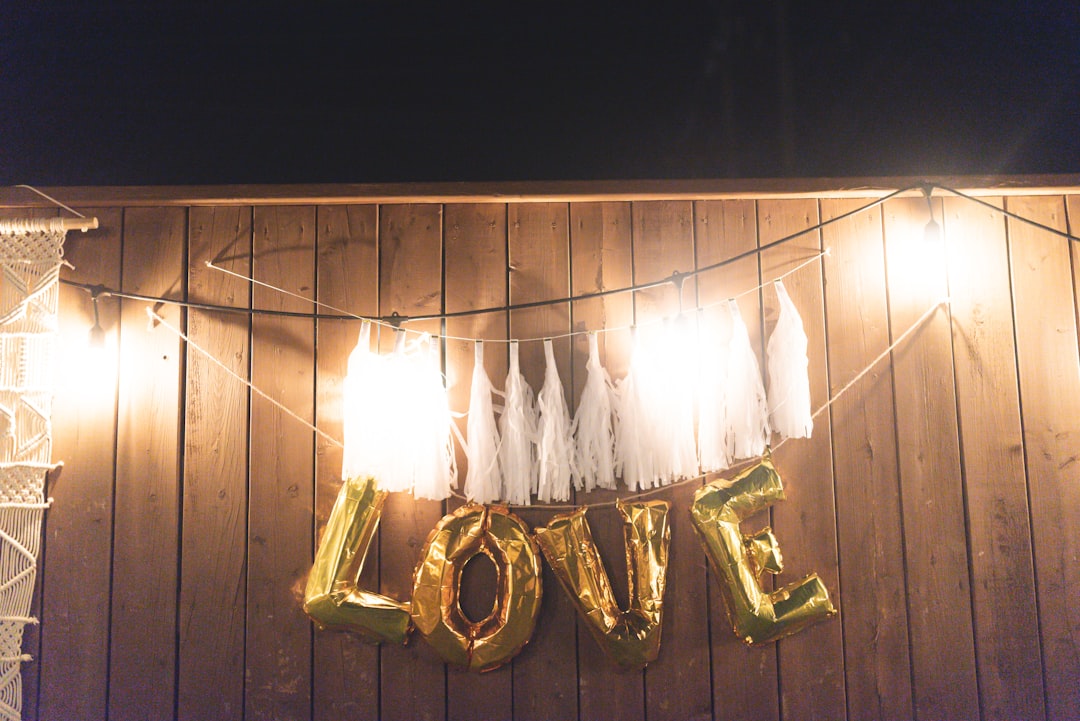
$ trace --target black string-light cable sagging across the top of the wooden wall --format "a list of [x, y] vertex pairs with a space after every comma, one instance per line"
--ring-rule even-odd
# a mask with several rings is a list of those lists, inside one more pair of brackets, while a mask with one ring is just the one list
[[[472, 310], [454, 311], [454, 312], [450, 312], [450, 313], [432, 313], [432, 314], [429, 314], [429, 315], [399, 315], [395, 312], [395, 313], [393, 313], [391, 315], [381, 315], [381, 316], [380, 315], [350, 315], [350, 314], [343, 314], [343, 313], [319, 313], [319, 312], [315, 312], [315, 313], [305, 313], [302, 311], [278, 311], [278, 310], [258, 309], [258, 308], [237, 308], [237, 307], [233, 307], [233, 305], [215, 305], [213, 303], [198, 303], [198, 302], [193, 302], [193, 301], [189, 301], [189, 300], [173, 300], [171, 298], [161, 298], [161, 297], [156, 297], [156, 296], [144, 296], [144, 295], [140, 295], [140, 294], [137, 294], [137, 293], [124, 293], [124, 291], [121, 291], [121, 290], [113, 290], [112, 288], [107, 288], [107, 287], [105, 287], [103, 285], [95, 285], [95, 284], [90, 284], [90, 283], [76, 283], [75, 281], [66, 281], [64, 278], [60, 278], [60, 283], [63, 283], [64, 285], [71, 286], [73, 288], [80, 288], [82, 290], [85, 290], [86, 293], [91, 294], [92, 296], [113, 296], [116, 298], [126, 298], [129, 300], [141, 300], [141, 301], [150, 302], [150, 303], [170, 303], [170, 304], [173, 304], [173, 305], [179, 305], [181, 308], [190, 308], [190, 309], [200, 310], [200, 311], [214, 311], [214, 312], [221, 312], [221, 313], [243, 313], [245, 315], [276, 315], [276, 316], [294, 317], [294, 318], [318, 318], [320, 321], [356, 321], [356, 319], [359, 319], [359, 321], [374, 321], [374, 322], [379, 322], [379, 323], [387, 323], [389, 325], [393, 325], [393, 326], [396, 327], [396, 326], [400, 326], [402, 323], [411, 322], [411, 321], [441, 321], [441, 319], [446, 319], [446, 318], [459, 318], [459, 317], [465, 317], [465, 316], [472, 316], [472, 315], [484, 315], [484, 314], [487, 314], [487, 313], [509, 313], [511, 311], [524, 311], [524, 310], [529, 310], [529, 309], [532, 309], [532, 308], [544, 308], [546, 305], [557, 305], [559, 303], [570, 303], [570, 302], [582, 301], [582, 300], [592, 300], [594, 298], [606, 298], [608, 296], [613, 296], [613, 295], [618, 295], [618, 294], [621, 294], [621, 293], [637, 293], [639, 290], [648, 290], [649, 288], [657, 288], [657, 287], [660, 287], [662, 285], [666, 285], [669, 283], [677, 285], [677, 284], [683, 283], [683, 281], [685, 281], [687, 277], [694, 277], [694, 276], [698, 276], [698, 275], [700, 275], [702, 273], [707, 273], [708, 271], [713, 271], [713, 270], [716, 270], [718, 268], [724, 268], [725, 266], [729, 266], [729, 264], [731, 264], [733, 262], [738, 262], [738, 261], [740, 261], [740, 260], [742, 260], [744, 258], [750, 258], [750, 257], [758, 255], [760, 253], [765, 253], [769, 248], [772, 248], [772, 247], [774, 247], [777, 245], [780, 245], [782, 243], [786, 243], [786, 242], [792, 241], [792, 240], [794, 240], [796, 237], [799, 237], [801, 235], [806, 235], [807, 233], [812, 233], [814, 231], [821, 230], [822, 228], [824, 228], [826, 226], [829, 226], [829, 225], [832, 225], [834, 222], [838, 222], [840, 220], [843, 220], [845, 218], [850, 218], [853, 215], [858, 215], [860, 213], [863, 213], [864, 210], [868, 210], [868, 209], [870, 209], [873, 207], [877, 207], [878, 205], [881, 205], [886, 201], [891, 200], [891, 199], [895, 198], [896, 195], [900, 195], [902, 193], [906, 193], [906, 192], [912, 191], [912, 190], [917, 190], [917, 189], [920, 189], [920, 188], [923, 188], [923, 186], [909, 186], [907, 188], [901, 188], [900, 190], [895, 190], [895, 191], [889, 193], [888, 195], [882, 195], [881, 198], [878, 198], [878, 199], [874, 200], [873, 202], [867, 203], [866, 205], [863, 205], [861, 207], [854, 208], [853, 210], [848, 210], [847, 213], [841, 213], [840, 215], [836, 216], [835, 218], [829, 218], [828, 220], [823, 220], [823, 221], [821, 221], [821, 222], [819, 222], [816, 225], [810, 226], [809, 228], [804, 228], [802, 230], [796, 231], [796, 232], [794, 232], [794, 233], [792, 233], [789, 235], [785, 235], [785, 236], [783, 236], [781, 239], [778, 239], [775, 241], [772, 241], [770, 243], [766, 243], [762, 246], [759, 246], [759, 247], [756, 247], [756, 248], [751, 248], [750, 250], [744, 250], [743, 253], [740, 253], [738, 255], [731, 256], [730, 258], [725, 258], [724, 260], [719, 260], [719, 261], [717, 261], [715, 263], [711, 263], [708, 266], [702, 266], [701, 268], [696, 268], [693, 270], [689, 270], [689, 271], [685, 271], [685, 272], [675, 271], [669, 277], [661, 278], [659, 281], [651, 281], [649, 283], [636, 283], [634, 285], [624, 286], [622, 288], [610, 288], [608, 290], [596, 290], [594, 293], [586, 293], [586, 294], [582, 294], [580, 296], [567, 296], [565, 298], [549, 298], [546, 300], [535, 300], [535, 301], [527, 302], [527, 303], [511, 303], [509, 305], [495, 305], [495, 307], [490, 307], [490, 308], [476, 308], [476, 309], [472, 309]], [[943, 188], [943, 190], [948, 190], [949, 192], [954, 192], [954, 193], [956, 193], [958, 195], [961, 194], [961, 193], [957, 193], [954, 190], [949, 190], [948, 188]], [[971, 200], [975, 200], [975, 199], [971, 199]], [[978, 202], [978, 201], [976, 201], [976, 202]], [[990, 207], [994, 207], [994, 206], [991, 205]], [[995, 209], [1001, 212], [1001, 208], [995, 208]], [[1005, 212], [1005, 213], [1008, 213], [1008, 212]], [[1020, 219], [1024, 220], [1024, 218], [1020, 218]], [[1039, 225], [1039, 223], [1035, 223], [1034, 221], [1030, 221], [1030, 220], [1028, 220], [1027, 222], [1032, 222], [1036, 226]], [[1045, 228], [1044, 226], [1039, 226], [1039, 227], [1040, 228]], [[1048, 230], [1053, 230], [1053, 229], [1048, 228]], [[1054, 232], [1061, 234], [1061, 231], [1054, 231]], [[1072, 237], [1072, 236], [1069, 235], [1068, 237]], [[1072, 239], [1072, 240], [1077, 240], [1077, 239]]]

